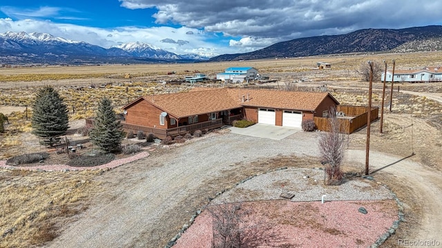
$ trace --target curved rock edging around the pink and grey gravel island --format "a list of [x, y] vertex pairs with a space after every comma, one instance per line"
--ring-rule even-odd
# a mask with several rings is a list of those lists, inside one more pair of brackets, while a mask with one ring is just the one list
[[[234, 187], [240, 185], [241, 183], [245, 183], [245, 182], [247, 182], [247, 181], [250, 180], [251, 178], [254, 178], [254, 177], [256, 177], [256, 176], [260, 176], [260, 175], [262, 175], [262, 174], [267, 174], [267, 173], [271, 173], [271, 172], [277, 172], [277, 171], [280, 171], [280, 170], [283, 170], [283, 169], [288, 169], [288, 167], [280, 167], [280, 168], [278, 168], [278, 169], [271, 169], [271, 170], [269, 170], [269, 171], [267, 171], [267, 172], [262, 172], [262, 173], [254, 174], [253, 176], [249, 176], [248, 178], [245, 178], [245, 179], [243, 179], [243, 180], [240, 180], [240, 182], [235, 183], [235, 185], [233, 185], [233, 186], [231, 186], [231, 187], [227, 187], [227, 188], [225, 188], [225, 189], [222, 189], [222, 191], [216, 193], [215, 196], [213, 196], [213, 197], [209, 197], [209, 201], [208, 201], [205, 205], [203, 205], [202, 207], [200, 207], [200, 209], [198, 209], [197, 211], [195, 211], [195, 214], [193, 214], [193, 215], [191, 216], [191, 218], [190, 218], [190, 220], [189, 220], [189, 223], [186, 223], [186, 224], [182, 225], [181, 230], [178, 231], [178, 233], [177, 233], [173, 238], [171, 238], [171, 240], [167, 243], [167, 245], [164, 246], [164, 248], [171, 248], [171, 247], [173, 247], [173, 245], [176, 244], [178, 238], [180, 238], [181, 235], [184, 234], [184, 232], [185, 232], [187, 229], [189, 229], [189, 227], [193, 224], [193, 222], [195, 221], [195, 218], [198, 217], [198, 216], [202, 213], [202, 210], [204, 210], [207, 206], [209, 206], [209, 204], [212, 202], [212, 200], [214, 200], [217, 196], [220, 196], [221, 194], [223, 194], [224, 192], [227, 192], [227, 191], [230, 190], [230, 189], [233, 189]], [[315, 167], [314, 169], [323, 169], [323, 168], [317, 168], [317, 167]], [[373, 176], [369, 176], [368, 178], [367, 178], [367, 176], [361, 176], [361, 177], [362, 177], [362, 178], [365, 178], [365, 179], [367, 179], [367, 180], [374, 180]], [[388, 229], [388, 231], [385, 232], [385, 234], [383, 234], [381, 237], [379, 237], [379, 238], [376, 240], [376, 242], [374, 242], [374, 244], [370, 246], [371, 248], [377, 248], [377, 247], [379, 247], [380, 245], [382, 245], [383, 242], [385, 242], [385, 240], [387, 240], [387, 238], [390, 238], [390, 236], [392, 236], [392, 234], [394, 234], [394, 233], [396, 232], [396, 229], [398, 229], [398, 227], [399, 227], [399, 223], [400, 223], [401, 221], [402, 221], [402, 222], [405, 222], [405, 218], [403, 217], [403, 216], [404, 216], [404, 214], [403, 214], [403, 203], [397, 198], [396, 194], [394, 194], [394, 193], [392, 192], [392, 189], [390, 189], [390, 187], [388, 187], [388, 186], [385, 185], [385, 184], [382, 184], [382, 186], [385, 187], [386, 189], [388, 189], [388, 190], [390, 191], [390, 194], [392, 194], [394, 200], [396, 200], [396, 203], [397, 203], [397, 205], [398, 205], [398, 209], [399, 209], [399, 210], [398, 210], [398, 220], [394, 220], [392, 227], [390, 227], [390, 229]]]

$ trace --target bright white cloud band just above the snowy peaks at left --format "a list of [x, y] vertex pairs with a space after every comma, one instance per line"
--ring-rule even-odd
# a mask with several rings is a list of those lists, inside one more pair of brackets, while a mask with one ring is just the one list
[[[195, 28], [171, 27], [119, 27], [113, 29], [93, 28], [81, 25], [54, 23], [52, 21], [21, 20], [10, 18], [0, 19], [0, 33], [4, 32], [45, 32], [55, 37], [64, 37], [74, 41], [85, 41], [104, 48], [110, 48], [119, 43], [140, 41], [155, 45], [164, 50], [178, 54], [186, 54], [195, 50], [207, 50], [213, 54], [231, 52], [230, 48], [220, 48], [220, 45], [206, 41], [208, 34]], [[193, 35], [189, 35], [193, 33]], [[184, 38], [184, 39], [183, 39]], [[164, 43], [164, 39], [175, 43]]]

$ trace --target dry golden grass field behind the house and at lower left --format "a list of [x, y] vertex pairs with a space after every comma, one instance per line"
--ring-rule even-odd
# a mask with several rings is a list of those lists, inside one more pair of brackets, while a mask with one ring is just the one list
[[[382, 62], [384, 59], [389, 61], [390, 70], [392, 59], [396, 59], [397, 70], [416, 69], [442, 65], [442, 52], [314, 56], [223, 63], [1, 68], [0, 112], [8, 116], [10, 125], [6, 126], [4, 134], [0, 134], [0, 159], [41, 150], [39, 145], [35, 145], [35, 136], [30, 134], [32, 110], [28, 108], [28, 120], [24, 112], [25, 106], [32, 104], [36, 89], [41, 85], [53, 85], [59, 90], [70, 111], [71, 121], [93, 116], [97, 99], [102, 96], [110, 98], [119, 111], [119, 107], [139, 96], [179, 92], [193, 87], [164, 85], [164, 81], [183, 79], [194, 72], [215, 77], [217, 72], [233, 66], [251, 66], [258, 69], [260, 74], [276, 80], [271, 84], [260, 84], [262, 86], [284, 88], [297, 81], [299, 83], [295, 83], [295, 89], [311, 91], [320, 90], [321, 85], [326, 85], [327, 90], [342, 104], [367, 105], [368, 83], [361, 81], [356, 70], [368, 60]], [[318, 61], [331, 63], [332, 70], [314, 69]], [[91, 85], [95, 87], [89, 87]], [[442, 83], [399, 83], [398, 86], [401, 90], [397, 92], [394, 88], [393, 112], [388, 113], [385, 109], [385, 132], [379, 134], [379, 121], [372, 124], [371, 148], [398, 156], [414, 152], [416, 156], [410, 159], [442, 170], [442, 103], [425, 96], [441, 96]], [[381, 105], [381, 90], [382, 83], [376, 80], [374, 106]], [[406, 94], [402, 90], [423, 95]], [[386, 96], [388, 99], [389, 91]], [[385, 101], [387, 105], [388, 100]], [[349, 148], [363, 149], [365, 130], [349, 136]], [[274, 163], [282, 164], [278, 161]], [[84, 211], [90, 198], [101, 190], [99, 185], [93, 183], [93, 178], [99, 174], [102, 172], [48, 174], [0, 169], [0, 202], [4, 209], [0, 214], [0, 247], [38, 246], [57, 236], [54, 230], [62, 230], [66, 223], [75, 220], [75, 215]], [[247, 174], [238, 173], [243, 176]], [[406, 195], [404, 191], [407, 189], [399, 183], [392, 183], [392, 187]], [[415, 214], [419, 218], [419, 213]]]

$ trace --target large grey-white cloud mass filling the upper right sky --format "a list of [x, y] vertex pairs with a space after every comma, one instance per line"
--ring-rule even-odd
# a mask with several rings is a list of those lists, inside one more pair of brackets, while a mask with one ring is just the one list
[[[122, 6], [155, 8], [157, 23], [177, 23], [224, 36], [279, 41], [339, 30], [408, 28], [439, 24], [442, 1], [415, 0], [119, 0]], [[419, 11], [416, 8], [419, 7]], [[425, 14], [422, 14], [425, 13]]]

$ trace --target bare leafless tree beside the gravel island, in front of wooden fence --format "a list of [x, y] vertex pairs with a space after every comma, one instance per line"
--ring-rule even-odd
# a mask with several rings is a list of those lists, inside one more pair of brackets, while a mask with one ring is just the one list
[[319, 151], [325, 172], [327, 184], [338, 184], [343, 177], [341, 164], [344, 159], [345, 134], [341, 133], [342, 127], [336, 117], [336, 108], [329, 110], [329, 132], [324, 132], [319, 137]]

